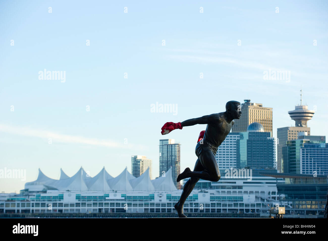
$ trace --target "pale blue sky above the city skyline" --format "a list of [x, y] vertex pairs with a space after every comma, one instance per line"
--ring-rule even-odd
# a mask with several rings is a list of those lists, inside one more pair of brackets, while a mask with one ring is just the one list
[[[162, 136], [165, 122], [251, 99], [273, 108], [277, 136], [295, 125], [287, 111], [301, 86], [316, 108], [312, 135], [328, 135], [326, 1], [141, 2], [1, 1], [0, 169], [26, 169], [26, 181], [38, 168], [59, 178], [60, 168], [94, 176], [105, 166], [117, 176], [131, 171], [131, 155], [146, 155], [154, 178], [165, 138], [181, 143], [181, 170], [193, 168], [205, 125]], [[44, 69], [66, 71], [66, 82], [39, 80]], [[290, 82], [264, 80], [269, 69], [291, 71]], [[156, 102], [177, 114], [152, 113]], [[26, 181], [0, 179], [0, 191]]]

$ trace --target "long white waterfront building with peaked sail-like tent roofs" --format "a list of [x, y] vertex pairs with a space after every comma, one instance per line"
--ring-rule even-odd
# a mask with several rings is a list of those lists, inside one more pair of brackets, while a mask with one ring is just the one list
[[[264, 214], [277, 203], [276, 184], [283, 182], [273, 177], [234, 178], [221, 170], [219, 182], [196, 184], [184, 211]], [[72, 177], [62, 171], [59, 180], [39, 170], [37, 180], [26, 183], [20, 194], [1, 193], [0, 213], [175, 213], [181, 192], [171, 169], [154, 180], [149, 169], [137, 178], [125, 169], [114, 178], [104, 168], [94, 177], [80, 168]]]

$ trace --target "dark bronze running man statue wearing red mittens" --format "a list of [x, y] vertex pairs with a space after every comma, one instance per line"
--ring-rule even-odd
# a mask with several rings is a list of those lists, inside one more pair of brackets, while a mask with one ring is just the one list
[[[196, 182], [199, 179], [217, 182], [220, 180], [220, 171], [217, 165], [215, 154], [217, 148], [225, 140], [234, 124], [234, 119], [241, 116], [241, 106], [238, 101], [229, 101], [226, 104], [226, 111], [211, 115], [204, 115], [199, 118], [185, 120], [183, 122], [173, 123], [167, 122], [162, 127], [162, 135], [168, 134], [175, 129], [182, 129], [185, 126], [194, 126], [196, 124], [207, 124], [204, 137], [198, 141], [195, 149], [198, 157], [194, 171], [187, 167], [180, 173], [176, 179], [179, 182], [182, 179], [190, 177], [183, 186], [183, 191], [179, 201], [174, 205], [179, 217], [187, 217], [183, 214], [183, 204], [187, 197], [193, 191]], [[198, 140], [201, 138], [198, 138]]]

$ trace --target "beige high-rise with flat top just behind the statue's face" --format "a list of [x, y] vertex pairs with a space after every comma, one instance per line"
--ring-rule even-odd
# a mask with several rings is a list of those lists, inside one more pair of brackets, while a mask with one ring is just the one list
[[246, 132], [247, 127], [253, 123], [260, 123], [265, 132], [272, 133], [272, 108], [263, 107], [259, 103], [251, 103], [251, 100], [244, 100], [241, 104], [241, 117], [235, 120], [232, 132]]

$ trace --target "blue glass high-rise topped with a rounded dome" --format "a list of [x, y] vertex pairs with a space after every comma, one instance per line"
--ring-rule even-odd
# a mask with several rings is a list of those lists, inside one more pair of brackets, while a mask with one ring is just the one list
[[264, 131], [264, 127], [257, 122], [250, 124], [246, 132], [239, 133], [236, 141], [236, 166], [250, 168], [253, 176], [259, 172], [277, 172], [276, 140], [271, 132]]

